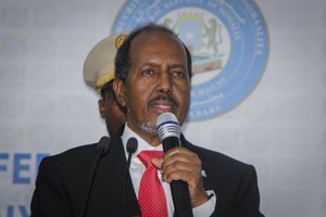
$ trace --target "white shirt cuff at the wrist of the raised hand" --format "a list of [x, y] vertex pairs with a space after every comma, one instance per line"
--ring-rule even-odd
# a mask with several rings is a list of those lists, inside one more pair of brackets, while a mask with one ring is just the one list
[[213, 190], [209, 190], [206, 193], [210, 195], [210, 200], [204, 204], [192, 208], [193, 217], [211, 216], [214, 213], [216, 205], [215, 192]]

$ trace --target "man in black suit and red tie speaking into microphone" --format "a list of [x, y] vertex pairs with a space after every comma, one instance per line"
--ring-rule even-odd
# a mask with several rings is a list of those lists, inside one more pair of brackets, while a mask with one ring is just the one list
[[173, 31], [153, 24], [131, 31], [117, 50], [115, 75], [113, 90], [127, 120], [101, 156], [88, 203], [97, 144], [41, 162], [33, 216], [178, 216], [176, 182], [186, 184], [188, 216], [263, 216], [253, 166], [193, 145], [183, 135], [180, 146], [161, 144], [158, 117], [172, 114], [167, 124], [181, 125], [190, 104], [191, 56]]

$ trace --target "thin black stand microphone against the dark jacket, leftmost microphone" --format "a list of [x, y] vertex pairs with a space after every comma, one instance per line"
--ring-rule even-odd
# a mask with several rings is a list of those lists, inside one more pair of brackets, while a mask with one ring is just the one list
[[92, 167], [91, 167], [91, 173], [90, 173], [90, 178], [88, 181], [88, 188], [87, 188], [87, 193], [85, 196], [85, 202], [84, 202], [84, 206], [83, 206], [83, 212], [82, 212], [82, 217], [86, 216], [87, 213], [87, 207], [88, 207], [88, 203], [89, 203], [89, 196], [90, 196], [90, 192], [92, 189], [92, 183], [93, 183], [93, 179], [96, 177], [97, 170], [98, 170], [98, 165], [100, 163], [100, 159], [102, 158], [102, 156], [104, 154], [106, 154], [110, 150], [110, 145], [111, 145], [111, 140], [109, 137], [102, 137], [99, 141], [99, 144], [97, 146], [97, 156], [93, 161]]

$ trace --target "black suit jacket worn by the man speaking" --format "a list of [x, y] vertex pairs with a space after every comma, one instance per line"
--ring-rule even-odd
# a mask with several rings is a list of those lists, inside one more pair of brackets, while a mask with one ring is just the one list
[[[199, 155], [206, 174], [203, 178], [204, 188], [216, 193], [216, 206], [212, 216], [263, 216], [259, 210], [260, 195], [253, 166], [196, 146], [184, 137], [181, 144]], [[97, 143], [45, 157], [30, 204], [32, 216], [79, 217], [96, 155]], [[126, 167], [122, 140], [120, 137], [113, 138], [109, 153], [99, 163], [87, 216], [123, 216], [123, 210], [126, 216], [140, 216], [129, 176], [124, 181]]]

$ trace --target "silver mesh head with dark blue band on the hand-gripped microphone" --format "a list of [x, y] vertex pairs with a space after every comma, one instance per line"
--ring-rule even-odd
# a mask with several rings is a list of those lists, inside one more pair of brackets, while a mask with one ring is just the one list
[[181, 133], [178, 119], [170, 112], [162, 113], [158, 116], [156, 131], [161, 141], [167, 137], [176, 137], [179, 139]]

